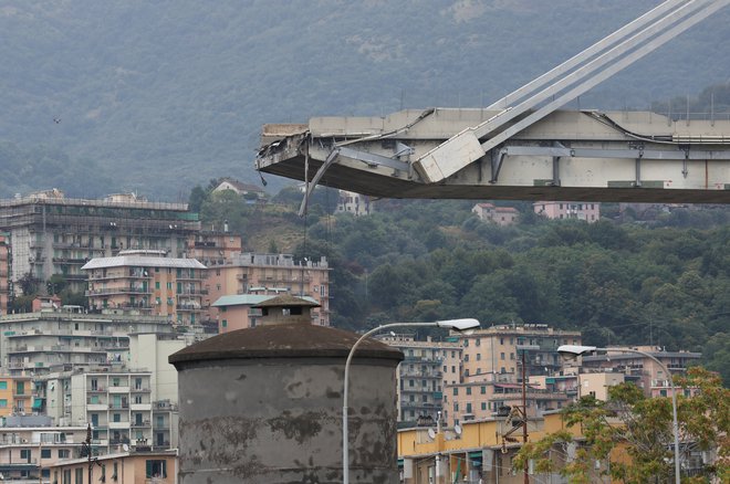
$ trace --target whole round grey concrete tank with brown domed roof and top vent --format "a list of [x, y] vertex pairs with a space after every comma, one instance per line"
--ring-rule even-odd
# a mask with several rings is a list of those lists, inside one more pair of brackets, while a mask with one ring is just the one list
[[[305, 299], [262, 304], [261, 326], [170, 356], [178, 370], [180, 484], [342, 483], [345, 360], [358, 336], [310, 324]], [[398, 482], [396, 373], [369, 339], [350, 379], [351, 482]]]

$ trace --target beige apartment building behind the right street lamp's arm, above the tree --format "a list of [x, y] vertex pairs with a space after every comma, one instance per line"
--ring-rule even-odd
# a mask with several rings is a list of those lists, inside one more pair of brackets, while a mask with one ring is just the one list
[[[669, 379], [672, 375], [684, 373], [687, 367], [698, 361], [701, 353], [691, 351], [666, 351], [656, 346], [632, 346], [630, 349], [648, 353], [669, 370], [669, 375], [654, 361], [644, 355], [622, 353], [620, 347], [605, 355], [583, 356], [580, 365], [583, 371], [612, 371], [623, 373], [627, 381], [638, 385], [647, 397], [671, 396]], [[581, 378], [584, 376], [581, 375]]]

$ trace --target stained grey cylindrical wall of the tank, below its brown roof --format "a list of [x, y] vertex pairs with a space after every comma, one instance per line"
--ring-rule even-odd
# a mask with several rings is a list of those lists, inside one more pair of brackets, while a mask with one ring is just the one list
[[[354, 483], [398, 483], [397, 361], [355, 359]], [[179, 369], [180, 484], [342, 483], [344, 359], [226, 359]]]

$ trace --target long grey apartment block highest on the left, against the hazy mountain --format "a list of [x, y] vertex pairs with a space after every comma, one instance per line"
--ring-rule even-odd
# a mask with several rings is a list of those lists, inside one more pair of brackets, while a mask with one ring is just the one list
[[148, 202], [134, 193], [70, 199], [54, 189], [0, 200], [0, 231], [10, 234], [15, 293], [21, 278], [30, 276], [44, 287], [53, 274], [63, 274], [79, 292], [86, 281], [81, 267], [90, 260], [127, 249], [181, 256], [200, 222], [186, 203]]

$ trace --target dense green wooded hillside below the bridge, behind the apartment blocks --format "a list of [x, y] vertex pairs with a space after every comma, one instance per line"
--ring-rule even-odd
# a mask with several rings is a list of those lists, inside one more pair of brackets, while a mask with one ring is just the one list
[[337, 327], [455, 317], [549, 324], [582, 330], [590, 345], [701, 351], [730, 385], [730, 208], [655, 209], [636, 220], [604, 203], [602, 220], [588, 224], [510, 202], [519, 223], [498, 227], [465, 200], [382, 200], [354, 218], [328, 215], [336, 194], [317, 190], [301, 219], [295, 189], [267, 206], [194, 192], [204, 224], [228, 220], [247, 250], [326, 256]]

